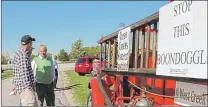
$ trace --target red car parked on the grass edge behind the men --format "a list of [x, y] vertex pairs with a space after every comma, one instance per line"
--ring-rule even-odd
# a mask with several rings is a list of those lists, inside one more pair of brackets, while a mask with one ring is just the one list
[[92, 64], [94, 59], [99, 59], [98, 57], [80, 57], [75, 64], [75, 72], [80, 76], [85, 76], [85, 74], [91, 73], [93, 70]]

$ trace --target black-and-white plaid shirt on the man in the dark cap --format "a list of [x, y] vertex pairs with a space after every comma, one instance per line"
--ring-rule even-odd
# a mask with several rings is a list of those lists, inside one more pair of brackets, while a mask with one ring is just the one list
[[17, 87], [17, 92], [21, 93], [25, 88], [33, 89], [35, 81], [28, 52], [23, 49], [15, 52], [12, 67], [15, 75], [13, 84]]

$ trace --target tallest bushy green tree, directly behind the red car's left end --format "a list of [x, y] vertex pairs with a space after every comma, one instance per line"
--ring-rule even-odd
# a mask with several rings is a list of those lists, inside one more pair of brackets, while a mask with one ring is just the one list
[[70, 57], [71, 59], [77, 59], [80, 56], [84, 56], [86, 52], [83, 50], [82, 40], [77, 40], [72, 44]]

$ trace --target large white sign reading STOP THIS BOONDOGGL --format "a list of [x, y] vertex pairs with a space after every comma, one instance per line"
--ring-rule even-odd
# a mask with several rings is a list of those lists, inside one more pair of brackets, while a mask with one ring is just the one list
[[207, 1], [159, 10], [157, 75], [207, 79]]

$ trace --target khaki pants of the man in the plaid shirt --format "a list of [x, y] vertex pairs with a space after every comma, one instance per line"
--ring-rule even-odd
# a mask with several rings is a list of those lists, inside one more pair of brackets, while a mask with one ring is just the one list
[[35, 91], [31, 88], [25, 88], [20, 93], [21, 105], [22, 106], [37, 106], [37, 100]]

